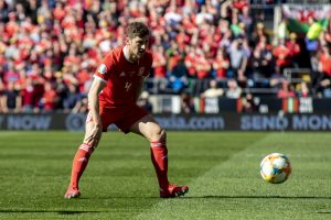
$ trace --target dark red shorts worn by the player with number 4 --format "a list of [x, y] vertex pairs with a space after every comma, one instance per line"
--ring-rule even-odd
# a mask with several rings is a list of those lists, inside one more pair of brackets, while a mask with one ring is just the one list
[[[104, 109], [100, 107], [103, 131], [107, 132], [110, 124], [116, 124], [124, 133], [129, 133], [130, 128], [140, 119], [149, 114], [143, 108], [135, 105], [130, 108]], [[86, 123], [93, 121], [90, 112], [87, 114]]]

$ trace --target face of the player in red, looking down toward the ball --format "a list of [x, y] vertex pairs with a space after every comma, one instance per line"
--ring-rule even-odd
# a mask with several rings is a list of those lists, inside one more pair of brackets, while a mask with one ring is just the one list
[[145, 37], [136, 36], [135, 38], [128, 38], [128, 46], [131, 59], [137, 61], [140, 57], [142, 57], [148, 47], [148, 35]]

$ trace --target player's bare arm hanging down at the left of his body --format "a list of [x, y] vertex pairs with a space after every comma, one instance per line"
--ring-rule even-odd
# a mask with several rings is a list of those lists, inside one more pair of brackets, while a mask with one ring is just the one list
[[88, 108], [96, 128], [102, 127], [102, 119], [99, 116], [99, 94], [105, 86], [105, 81], [95, 77], [88, 91]]

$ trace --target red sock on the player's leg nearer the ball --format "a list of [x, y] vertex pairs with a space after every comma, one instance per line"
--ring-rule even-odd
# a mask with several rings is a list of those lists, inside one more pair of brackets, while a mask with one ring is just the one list
[[160, 189], [168, 189], [168, 150], [164, 142], [151, 142], [151, 160], [154, 165]]

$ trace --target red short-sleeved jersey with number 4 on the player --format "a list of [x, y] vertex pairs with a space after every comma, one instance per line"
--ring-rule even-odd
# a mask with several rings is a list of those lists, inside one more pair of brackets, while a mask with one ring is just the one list
[[149, 76], [152, 65], [150, 52], [137, 62], [130, 63], [125, 58], [124, 46], [110, 51], [102, 61], [94, 77], [106, 82], [99, 94], [102, 108], [126, 108], [136, 105], [138, 85]]

